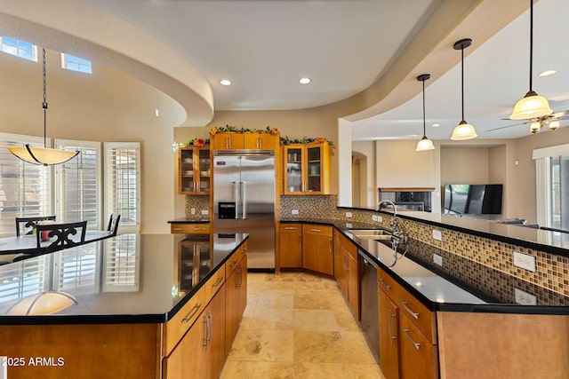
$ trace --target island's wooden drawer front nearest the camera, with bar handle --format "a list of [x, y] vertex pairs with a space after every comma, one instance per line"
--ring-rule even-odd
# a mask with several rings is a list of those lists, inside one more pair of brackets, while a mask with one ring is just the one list
[[166, 322], [163, 328], [163, 355], [167, 356], [173, 350], [173, 348], [178, 344], [181, 337], [188, 331], [192, 326], [197, 316], [204, 310], [207, 302], [205, 301], [205, 288], [200, 288], [188, 303], [178, 311], [172, 320]]

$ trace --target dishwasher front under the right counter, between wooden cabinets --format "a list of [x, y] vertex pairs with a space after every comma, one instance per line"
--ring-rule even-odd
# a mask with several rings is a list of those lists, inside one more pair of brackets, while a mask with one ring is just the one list
[[365, 339], [375, 359], [380, 357], [379, 317], [377, 308], [377, 265], [365, 257], [365, 253], [357, 250], [360, 272], [361, 318]]

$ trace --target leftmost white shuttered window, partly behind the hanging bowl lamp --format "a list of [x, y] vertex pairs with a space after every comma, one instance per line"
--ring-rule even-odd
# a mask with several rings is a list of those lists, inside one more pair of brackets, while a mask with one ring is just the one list
[[0, 133], [0, 236], [16, 233], [15, 217], [52, 215], [52, 169], [16, 158], [9, 147], [44, 146], [44, 138]]

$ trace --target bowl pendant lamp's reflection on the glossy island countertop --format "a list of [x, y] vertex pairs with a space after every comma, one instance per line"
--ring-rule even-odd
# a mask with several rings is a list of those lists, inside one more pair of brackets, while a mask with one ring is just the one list
[[10, 315], [52, 314], [77, 304], [74, 296], [65, 292], [47, 291], [22, 298], [6, 312]]

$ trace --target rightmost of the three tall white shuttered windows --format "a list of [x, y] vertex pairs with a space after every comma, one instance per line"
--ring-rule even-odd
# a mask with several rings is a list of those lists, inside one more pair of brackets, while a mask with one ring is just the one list
[[119, 230], [140, 231], [140, 143], [105, 142], [106, 217], [121, 215]]

